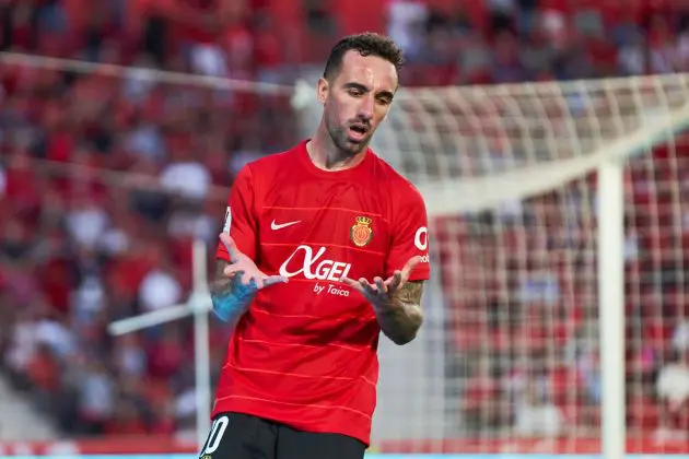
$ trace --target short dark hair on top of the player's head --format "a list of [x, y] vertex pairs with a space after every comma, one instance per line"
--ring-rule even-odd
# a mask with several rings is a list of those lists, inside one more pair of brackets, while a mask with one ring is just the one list
[[352, 49], [361, 56], [377, 56], [387, 60], [395, 66], [397, 72], [405, 63], [401, 49], [392, 38], [373, 32], [365, 32], [363, 34], [348, 35], [332, 47], [323, 78], [331, 81], [340, 70], [344, 55]]

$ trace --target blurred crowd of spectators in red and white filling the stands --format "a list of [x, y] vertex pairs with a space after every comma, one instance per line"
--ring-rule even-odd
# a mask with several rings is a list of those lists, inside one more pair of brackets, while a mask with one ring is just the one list
[[[234, 174], [247, 161], [299, 140], [289, 93], [260, 89], [289, 85], [305, 69], [319, 69], [329, 46], [348, 27], [331, 2], [303, 1], [300, 22], [290, 24], [277, 17], [269, 3], [0, 0], [2, 51], [137, 68], [97, 72], [98, 67], [36, 67], [28, 59], [10, 60], [9, 55], [0, 60], [0, 365], [14, 386], [27, 392], [36, 408], [67, 434], [179, 434], [194, 429], [190, 322], [182, 320], [120, 338], [110, 337], [106, 326], [117, 318], [185, 301], [191, 287], [191, 240], [200, 237], [210, 247], [214, 245]], [[384, 13], [378, 31], [387, 32], [405, 49], [408, 66], [402, 83], [407, 85], [568, 80], [689, 69], [689, 5], [685, 10], [681, 1], [369, 3]], [[349, 17], [349, 28], [355, 21]], [[219, 89], [199, 80], [173, 84], [156, 79], [157, 70], [266, 86]], [[647, 199], [675, 202], [656, 195]], [[544, 225], [550, 224], [548, 216], [540, 217], [546, 219]], [[658, 217], [645, 215], [630, 228], [642, 232], [649, 219]], [[645, 236], [640, 235], [635, 246], [630, 242], [629, 247], [637, 247], [637, 260], [644, 257], [639, 254], [662, 258], [684, 254], [689, 247], [679, 239], [672, 243], [672, 249], [661, 250]], [[477, 247], [470, 237], [479, 236], [467, 237], [456, 242], [464, 255]], [[480, 243], [487, 258], [491, 245], [510, 247], [506, 240]], [[467, 255], [462, 262], [468, 260], [472, 259]], [[522, 287], [558, 297], [567, 286], [561, 282], [567, 275], [558, 278], [558, 263], [562, 260], [506, 271], [542, 271], [542, 279]], [[629, 261], [628, 270], [653, 276], [661, 264], [666, 271], [682, 267], [679, 262]], [[672, 292], [673, 298], [679, 298], [672, 307], [662, 299], [630, 306], [630, 314], [643, 309], [638, 317], [658, 318], [653, 327], [638, 325], [639, 329], [630, 331], [631, 341], [650, 339], [655, 345], [629, 350], [630, 362], [645, 363], [643, 376], [634, 380], [650, 389], [633, 392], [641, 395], [633, 407], [641, 407], [643, 419], [637, 423], [644, 428], [661, 424], [661, 414], [646, 415], [657, 412], [658, 397], [670, 399], [674, 425], [689, 428], [681, 423], [686, 416], [677, 415], [689, 398], [689, 325], [676, 319], [687, 313], [682, 282], [672, 287], [654, 284], [661, 293]], [[643, 292], [644, 297], [656, 290]], [[519, 313], [540, 317], [541, 334], [527, 336], [547, 349], [514, 355], [517, 348], [512, 353], [492, 344], [480, 352], [474, 349], [481, 337], [492, 337], [491, 343], [504, 341], [502, 333], [507, 330], [495, 319], [509, 316], [502, 309], [504, 302], [490, 298], [489, 304], [482, 298], [483, 303], [462, 307], [474, 308], [465, 317], [484, 320], [456, 322], [458, 336], [467, 332], [455, 345], [479, 356], [471, 368], [455, 369], [467, 381], [457, 395], [462, 400], [457, 410], [463, 411], [467, 429], [484, 432], [516, 424], [524, 435], [544, 435], [562, 434], [568, 422], [595, 425], [595, 410], [572, 417], [562, 409], [564, 402], [558, 402], [558, 393], [538, 389], [546, 379], [560, 378], [554, 387], [563, 391], [564, 404], [598, 404], [595, 349], [577, 354], [576, 364], [565, 368], [544, 364], [559, 361], [547, 349], [563, 344], [559, 340], [570, 336], [571, 330], [564, 330], [568, 323], [580, 323], [595, 308], [582, 311], [581, 304], [571, 308], [565, 304], [547, 316], [558, 317], [554, 320], [538, 313]], [[526, 317], [532, 318], [519, 316], [514, 322], [526, 323]], [[661, 330], [656, 330], [657, 323]], [[477, 330], [484, 334], [476, 334]], [[651, 338], [644, 334], [655, 332]], [[509, 333], [521, 332], [510, 328]], [[226, 338], [226, 330], [213, 322], [213, 379]], [[676, 355], [670, 356], [673, 353]], [[525, 355], [533, 369], [529, 375], [538, 375], [526, 378], [529, 384], [519, 378], [524, 367], [495, 364], [503, 357], [517, 362]], [[665, 368], [661, 364], [667, 362], [674, 365], [665, 377], [670, 382], [659, 384]], [[525, 397], [519, 407], [526, 411], [505, 410], [514, 403], [497, 401], [497, 393], [509, 392], [505, 381], [515, 380], [522, 381]], [[573, 389], [573, 380], [581, 381], [581, 391], [580, 386]], [[662, 390], [656, 390], [656, 382]], [[634, 409], [631, 411], [633, 417]]]

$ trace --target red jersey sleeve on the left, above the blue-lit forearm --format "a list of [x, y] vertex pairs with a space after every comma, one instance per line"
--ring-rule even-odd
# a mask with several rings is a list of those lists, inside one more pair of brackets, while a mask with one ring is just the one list
[[[254, 176], [249, 166], [244, 166], [237, 174], [230, 198], [222, 231], [230, 232], [240, 251], [253, 260], [256, 259], [257, 223], [254, 212]], [[227, 249], [218, 244], [215, 258], [230, 261]]]

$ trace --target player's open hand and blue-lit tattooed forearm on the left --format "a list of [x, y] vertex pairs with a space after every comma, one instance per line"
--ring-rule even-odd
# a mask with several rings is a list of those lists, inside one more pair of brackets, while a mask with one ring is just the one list
[[221, 233], [220, 240], [227, 249], [230, 264], [213, 282], [213, 311], [221, 320], [235, 321], [250, 305], [256, 292], [273, 284], [285, 283], [288, 278], [265, 274], [254, 260], [240, 251], [229, 234]]

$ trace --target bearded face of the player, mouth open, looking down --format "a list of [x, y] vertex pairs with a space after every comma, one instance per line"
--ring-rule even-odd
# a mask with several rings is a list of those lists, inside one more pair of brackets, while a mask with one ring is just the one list
[[355, 155], [363, 151], [385, 118], [397, 91], [397, 69], [376, 56], [348, 51], [331, 82], [320, 80], [318, 96], [335, 146]]

